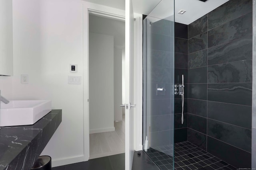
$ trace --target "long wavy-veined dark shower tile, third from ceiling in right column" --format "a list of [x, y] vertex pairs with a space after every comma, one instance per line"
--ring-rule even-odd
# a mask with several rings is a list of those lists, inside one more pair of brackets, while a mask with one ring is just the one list
[[[208, 65], [252, 59], [252, 37], [208, 48]], [[188, 61], [190, 55], [188, 55]], [[188, 63], [189, 66], [189, 63]], [[189, 67], [188, 67], [189, 68]]]

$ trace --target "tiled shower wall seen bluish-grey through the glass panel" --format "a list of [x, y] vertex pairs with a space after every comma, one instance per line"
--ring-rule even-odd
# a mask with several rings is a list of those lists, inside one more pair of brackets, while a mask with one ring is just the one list
[[[172, 134], [173, 125], [173, 96], [171, 90], [173, 87], [173, 68], [174, 68], [174, 36], [173, 23], [168, 20], [159, 20], [151, 23], [150, 37], [151, 44], [147, 50], [150, 55], [144, 59], [144, 62], [150, 63], [146, 66], [144, 63], [144, 72], [151, 73], [144, 77], [147, 94], [150, 98], [146, 98], [147, 109], [145, 110], [147, 127], [147, 136], [150, 147], [160, 147], [173, 144]], [[182, 43], [182, 42], [181, 42]], [[187, 61], [187, 57], [180, 56], [180, 62]], [[182, 65], [180, 66], [181, 68]], [[145, 76], [145, 75], [144, 75]], [[157, 92], [157, 88], [164, 88], [164, 92]], [[172, 90], [173, 91], [173, 90]], [[148, 93], [150, 92], [150, 94]], [[150, 126], [150, 127], [149, 127]]]

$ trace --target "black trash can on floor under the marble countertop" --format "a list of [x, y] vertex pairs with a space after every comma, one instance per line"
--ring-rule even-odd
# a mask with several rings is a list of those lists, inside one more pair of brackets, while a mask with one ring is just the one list
[[30, 170], [52, 170], [52, 158], [39, 156]]

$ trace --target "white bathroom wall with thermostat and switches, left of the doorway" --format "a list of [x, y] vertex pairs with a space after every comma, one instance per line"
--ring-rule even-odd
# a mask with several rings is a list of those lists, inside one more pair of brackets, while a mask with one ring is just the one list
[[[50, 99], [62, 123], [42, 154], [52, 166], [84, 160], [83, 84], [68, 75], [83, 71], [82, 4], [78, 0], [13, 0], [14, 99]], [[78, 64], [70, 73], [69, 64]], [[29, 84], [20, 84], [20, 74]], [[3, 90], [4, 91], [4, 90]]]

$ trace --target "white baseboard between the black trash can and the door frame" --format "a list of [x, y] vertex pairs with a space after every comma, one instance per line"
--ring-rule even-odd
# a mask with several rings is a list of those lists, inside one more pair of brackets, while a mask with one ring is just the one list
[[52, 167], [63, 166], [68, 164], [74, 164], [78, 162], [84, 162], [84, 155], [79, 155], [76, 157], [61, 158], [61, 159], [52, 159]]

